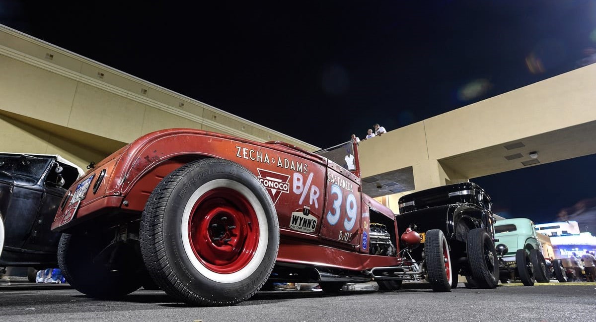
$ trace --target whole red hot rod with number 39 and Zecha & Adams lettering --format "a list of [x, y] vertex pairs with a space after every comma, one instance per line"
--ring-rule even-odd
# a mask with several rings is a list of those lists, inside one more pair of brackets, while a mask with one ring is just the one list
[[449, 291], [454, 278], [440, 230], [426, 232], [424, 262], [412, 260], [420, 235], [399, 240], [395, 214], [361, 192], [352, 142], [311, 153], [194, 129], [149, 133], [77, 180], [52, 230], [63, 233], [66, 279], [98, 298], [147, 280], [188, 304], [231, 305], [272, 280], [337, 292], [428, 279]]

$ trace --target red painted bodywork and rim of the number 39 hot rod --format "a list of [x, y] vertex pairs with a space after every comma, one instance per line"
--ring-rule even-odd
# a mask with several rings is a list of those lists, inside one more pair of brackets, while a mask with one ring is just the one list
[[[327, 158], [284, 142], [253, 142], [195, 129], [160, 130], [114, 152], [79, 179], [77, 183], [104, 168], [107, 170], [97, 194], [88, 192], [70, 219], [64, 220], [66, 209], [58, 211], [52, 230], [68, 231], [85, 217], [100, 217], [108, 212], [117, 214], [119, 210], [140, 216], [151, 191], [167, 174], [199, 158], [222, 158], [237, 162], [252, 172], [274, 202], [282, 237], [278, 261], [318, 262], [351, 270], [398, 265], [400, 258], [370, 256], [366, 243], [363, 244], [363, 236], [370, 234], [368, 213], [371, 208], [392, 220], [395, 232], [397, 226], [392, 211], [361, 192], [356, 145], [354, 154], [356, 168], [348, 171]], [[305, 226], [300, 231], [296, 229], [296, 215], [293, 218], [292, 214], [305, 209], [312, 216], [309, 225], [316, 223], [316, 226]], [[227, 212], [234, 217], [234, 211], [229, 208], [212, 207], [212, 210], [197, 211], [191, 225], [200, 227], [217, 221], [217, 215], [211, 211]], [[294, 228], [291, 228], [293, 219]], [[240, 216], [235, 220], [242, 226]], [[230, 232], [240, 236], [231, 241], [245, 242], [250, 249], [256, 241], [247, 240], [248, 228], [244, 225], [243, 229]], [[210, 240], [211, 235], [205, 235], [206, 232], [189, 227], [189, 233], [194, 247], [212, 250], [208, 253], [211, 255], [200, 260], [212, 265], [215, 271], [233, 272], [246, 262], [232, 261], [231, 258], [250, 259], [250, 255], [235, 254], [233, 247], [218, 246]], [[399, 244], [395, 244], [399, 250]], [[230, 264], [232, 262], [234, 264]]]

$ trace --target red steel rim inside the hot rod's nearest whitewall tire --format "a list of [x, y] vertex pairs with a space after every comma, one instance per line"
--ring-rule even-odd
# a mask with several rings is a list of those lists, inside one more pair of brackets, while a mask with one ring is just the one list
[[230, 274], [244, 268], [259, 245], [259, 221], [237, 190], [219, 187], [193, 205], [188, 238], [195, 257], [209, 270]]

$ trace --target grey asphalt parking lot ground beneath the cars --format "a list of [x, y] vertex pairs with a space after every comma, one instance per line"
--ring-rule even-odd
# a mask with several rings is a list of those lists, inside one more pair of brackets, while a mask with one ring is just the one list
[[551, 281], [447, 293], [431, 292], [421, 283], [378, 292], [367, 283], [340, 295], [259, 292], [233, 307], [189, 307], [160, 290], [103, 301], [67, 284], [25, 281], [0, 286], [2, 321], [596, 321], [596, 283]]

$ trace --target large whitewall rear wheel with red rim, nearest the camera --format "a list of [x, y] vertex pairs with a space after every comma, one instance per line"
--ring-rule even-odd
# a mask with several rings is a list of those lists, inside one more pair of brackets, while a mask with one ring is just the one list
[[279, 228], [274, 204], [252, 172], [229, 160], [197, 160], [151, 193], [141, 216], [141, 253], [169, 295], [193, 305], [232, 305], [269, 278]]

